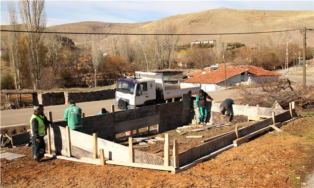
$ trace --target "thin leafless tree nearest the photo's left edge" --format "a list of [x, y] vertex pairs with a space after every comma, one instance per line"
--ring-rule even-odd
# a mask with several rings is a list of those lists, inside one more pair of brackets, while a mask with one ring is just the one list
[[[11, 30], [15, 31], [18, 30], [17, 25], [17, 13], [15, 9], [15, 2], [8, 1], [7, 3], [9, 14], [10, 14], [10, 25]], [[20, 44], [20, 34], [17, 32], [10, 32], [8, 35], [9, 40], [9, 58], [10, 58], [10, 65], [14, 72], [14, 83], [15, 89], [21, 89], [21, 82], [20, 82], [20, 58], [19, 58], [19, 44]]]

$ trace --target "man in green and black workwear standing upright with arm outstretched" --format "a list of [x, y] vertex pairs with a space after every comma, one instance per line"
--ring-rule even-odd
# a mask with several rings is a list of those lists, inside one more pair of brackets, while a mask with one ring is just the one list
[[214, 99], [204, 92], [204, 90], [200, 90], [199, 94], [196, 95], [195, 105], [197, 107], [197, 110], [199, 111], [199, 117], [197, 124], [205, 124], [206, 116], [207, 116], [207, 106], [206, 106], [206, 98], [208, 98], [210, 101], [214, 101]]

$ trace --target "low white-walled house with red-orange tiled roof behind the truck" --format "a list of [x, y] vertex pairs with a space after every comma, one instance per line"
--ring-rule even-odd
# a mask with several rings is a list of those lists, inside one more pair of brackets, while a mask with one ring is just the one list
[[189, 78], [182, 80], [184, 85], [201, 85], [204, 91], [224, 90], [226, 87], [249, 85], [252, 83], [278, 82], [280, 74], [256, 67], [224, 67], [210, 71], [205, 68], [202, 71], [189, 73]]

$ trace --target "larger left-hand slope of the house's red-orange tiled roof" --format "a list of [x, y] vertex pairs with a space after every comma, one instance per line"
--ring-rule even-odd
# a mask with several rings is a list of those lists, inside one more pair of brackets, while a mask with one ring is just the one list
[[[248, 69], [244, 68], [226, 68], [226, 79], [241, 74], [242, 72], [247, 71]], [[217, 84], [224, 81], [224, 68], [214, 70], [212, 72], [194, 76], [188, 79], [183, 80], [185, 83], [203, 83], [203, 84]]]

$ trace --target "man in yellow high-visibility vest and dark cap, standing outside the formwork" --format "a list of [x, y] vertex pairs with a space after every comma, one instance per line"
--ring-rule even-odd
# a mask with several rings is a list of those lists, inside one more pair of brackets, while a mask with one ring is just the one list
[[30, 119], [31, 136], [32, 136], [32, 152], [33, 158], [40, 162], [45, 154], [45, 123], [41, 115], [44, 112], [44, 108], [40, 106], [34, 106], [34, 114]]

